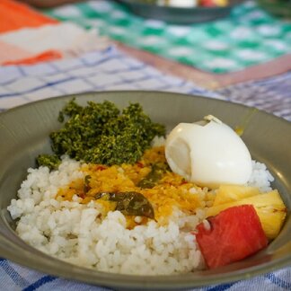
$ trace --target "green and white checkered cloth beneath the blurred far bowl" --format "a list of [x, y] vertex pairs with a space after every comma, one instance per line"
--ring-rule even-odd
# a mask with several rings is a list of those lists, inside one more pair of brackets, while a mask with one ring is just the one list
[[216, 74], [242, 70], [291, 53], [291, 22], [274, 18], [248, 1], [225, 19], [173, 25], [144, 19], [114, 1], [88, 1], [46, 11], [134, 48], [148, 50]]

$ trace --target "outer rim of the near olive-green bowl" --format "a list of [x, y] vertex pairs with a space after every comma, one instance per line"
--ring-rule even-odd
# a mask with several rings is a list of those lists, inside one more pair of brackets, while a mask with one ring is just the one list
[[[77, 94], [68, 94], [64, 96], [58, 96], [53, 98], [48, 98], [40, 101], [33, 101], [30, 103], [22, 104], [20, 106], [14, 107], [13, 109], [6, 110], [4, 112], [0, 113], [0, 121], [1, 118], [7, 115], [13, 115], [15, 112], [17, 113], [18, 110], [26, 110], [27, 108], [31, 108], [31, 105], [37, 105], [41, 106], [42, 103], [48, 103], [48, 102], [55, 102], [57, 100], [59, 101], [69, 101], [73, 97], [76, 98], [83, 98], [86, 96], [89, 98], [90, 96], [95, 95], [118, 95], [120, 93], [128, 93], [128, 94], [163, 94], [163, 95], [176, 95], [176, 97], [179, 96], [179, 98], [193, 98], [193, 102], [195, 100], [203, 100], [203, 101], [212, 101], [222, 104], [228, 104], [230, 107], [241, 107], [245, 110], [250, 110], [251, 107], [240, 104], [240, 103], [234, 103], [231, 101], [225, 101], [225, 100], [219, 100], [211, 97], [205, 97], [205, 96], [199, 96], [199, 95], [190, 95], [185, 93], [168, 93], [168, 92], [159, 92], [159, 91], [104, 91], [104, 92], [92, 92], [92, 93], [77, 93]], [[144, 97], [146, 98], [146, 97]], [[286, 119], [281, 119], [275, 115], [272, 115], [270, 113], [267, 113], [264, 110], [258, 110], [263, 115], [268, 115], [269, 118], [273, 119], [274, 121], [277, 120], [277, 122], [287, 122], [287, 124], [290, 126], [291, 129], [291, 123], [287, 121]], [[1, 128], [0, 128], [1, 130]], [[291, 132], [291, 131], [290, 131]], [[3, 216], [3, 212], [1, 213], [1, 216]], [[7, 224], [6, 226], [10, 227], [10, 225]], [[11, 227], [10, 227], [11, 228]], [[17, 236], [15, 232], [13, 232], [11, 235]], [[20, 239], [20, 238], [19, 238]], [[22, 242], [26, 245], [25, 242]], [[291, 241], [288, 242], [291, 246]], [[36, 252], [36, 255], [31, 256], [31, 252]], [[8, 259], [13, 260], [16, 263], [19, 263], [23, 265], [23, 258], [25, 259], [24, 265], [26, 267], [29, 267], [31, 269], [36, 269], [38, 271], [43, 271], [45, 273], [48, 273], [53, 276], [68, 278], [68, 279], [77, 279], [79, 281], [82, 281], [84, 283], [99, 285], [99, 286], [107, 286], [107, 287], [125, 287], [125, 288], [137, 288], [137, 287], [143, 287], [144, 289], [176, 289], [179, 288], [186, 288], [186, 287], [205, 287], [209, 285], [214, 284], [223, 284], [223, 283], [229, 283], [234, 282], [236, 280], [240, 279], [247, 279], [251, 278], [275, 269], [286, 267], [291, 262], [291, 253], [284, 258], [281, 258], [279, 260], [276, 260], [275, 262], [264, 262], [260, 264], [259, 266], [253, 266], [246, 269], [239, 269], [235, 270], [234, 272], [225, 272], [222, 274], [219, 274], [219, 278], [217, 278], [215, 272], [210, 272], [210, 275], [207, 274], [207, 277], [200, 276], [200, 278], [193, 279], [193, 273], [186, 274], [183, 276], [180, 275], [174, 275], [174, 276], [136, 276], [136, 275], [124, 275], [124, 274], [115, 274], [115, 273], [107, 273], [107, 272], [101, 272], [96, 271], [92, 269], [86, 269], [83, 267], [78, 267], [73, 264], [64, 262], [62, 260], [55, 259], [45, 253], [42, 253], [40, 251], [37, 251], [30, 245], [27, 245], [27, 247], [23, 247], [22, 244], [15, 245], [11, 244], [9, 237], [6, 237], [3, 233], [3, 231], [0, 228], [0, 253], [1, 255]], [[36, 264], [37, 263], [37, 267]], [[227, 268], [226, 268], [227, 270]], [[198, 272], [199, 273], [199, 272]], [[197, 274], [198, 274], [197, 273]], [[192, 278], [192, 279], [191, 279]]]

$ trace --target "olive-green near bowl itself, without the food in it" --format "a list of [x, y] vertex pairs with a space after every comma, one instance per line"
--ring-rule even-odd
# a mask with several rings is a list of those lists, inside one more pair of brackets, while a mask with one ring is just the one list
[[0, 114], [0, 257], [31, 269], [119, 289], [179, 289], [231, 282], [279, 269], [291, 264], [291, 124], [266, 112], [226, 101], [178, 93], [104, 92], [74, 95], [77, 102], [114, 101], [120, 108], [129, 101], [140, 102], [154, 121], [173, 128], [179, 122], [192, 122], [213, 114], [232, 127], [241, 125], [251, 113], [243, 139], [254, 159], [266, 163], [275, 176], [273, 186], [281, 193], [287, 208], [287, 221], [276, 240], [256, 255], [224, 268], [176, 276], [130, 276], [84, 269], [54, 259], [23, 242], [14, 232], [6, 210], [16, 197], [27, 168], [35, 157], [49, 153], [48, 134], [59, 128], [58, 111], [73, 96], [33, 102]]

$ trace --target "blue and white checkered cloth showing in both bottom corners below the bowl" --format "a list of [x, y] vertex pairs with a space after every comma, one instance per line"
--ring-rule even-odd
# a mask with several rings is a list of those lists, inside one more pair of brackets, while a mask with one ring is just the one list
[[[49, 276], [32, 269], [26, 269], [9, 260], [0, 259], [0, 288], [9, 291], [110, 291], [106, 287], [92, 285]], [[291, 290], [291, 267], [279, 269], [248, 280], [235, 281], [215, 286], [191, 288], [188, 291], [289, 291]]]

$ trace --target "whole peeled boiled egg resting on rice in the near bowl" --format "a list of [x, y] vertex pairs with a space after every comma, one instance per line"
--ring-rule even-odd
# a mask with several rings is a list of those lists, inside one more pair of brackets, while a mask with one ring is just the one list
[[251, 177], [251, 154], [232, 128], [215, 117], [180, 123], [166, 138], [165, 156], [172, 172], [209, 188], [245, 184]]

